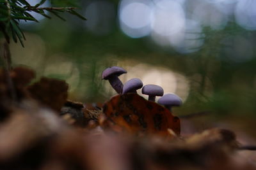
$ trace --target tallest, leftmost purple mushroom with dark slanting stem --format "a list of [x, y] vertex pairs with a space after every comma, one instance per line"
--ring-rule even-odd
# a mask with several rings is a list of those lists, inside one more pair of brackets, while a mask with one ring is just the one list
[[122, 81], [118, 78], [118, 76], [124, 73], [127, 73], [127, 71], [122, 67], [113, 66], [105, 69], [102, 72], [101, 77], [104, 80], [108, 80], [111, 86], [113, 87], [113, 89], [115, 89], [118, 94], [122, 94], [124, 85]]

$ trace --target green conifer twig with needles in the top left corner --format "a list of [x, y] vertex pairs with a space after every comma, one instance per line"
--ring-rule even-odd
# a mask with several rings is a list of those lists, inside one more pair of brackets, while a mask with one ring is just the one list
[[[51, 18], [51, 16], [45, 13], [45, 11], [49, 11], [61, 20], [65, 20], [65, 18], [61, 17], [60, 13], [67, 12], [86, 20], [86, 18], [75, 11], [76, 8], [74, 7], [41, 7], [45, 1], [46, 0], [41, 0], [40, 3], [31, 6], [26, 0], [0, 0], [0, 31], [3, 32], [4, 38], [8, 43], [10, 42], [10, 34], [12, 34], [13, 41], [17, 43], [19, 39], [20, 44], [24, 46], [23, 40], [25, 36], [19, 27], [20, 20], [38, 22], [38, 20], [29, 13], [30, 11], [43, 15], [46, 18]], [[74, 1], [70, 3], [68, 0], [52, 0], [51, 3], [54, 6], [60, 6], [62, 4], [75, 5]]]

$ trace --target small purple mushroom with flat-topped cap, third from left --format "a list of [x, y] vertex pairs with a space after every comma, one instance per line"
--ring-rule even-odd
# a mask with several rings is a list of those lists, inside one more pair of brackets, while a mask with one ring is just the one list
[[148, 101], [156, 101], [156, 96], [163, 96], [164, 89], [159, 85], [145, 85], [141, 92], [148, 95]]

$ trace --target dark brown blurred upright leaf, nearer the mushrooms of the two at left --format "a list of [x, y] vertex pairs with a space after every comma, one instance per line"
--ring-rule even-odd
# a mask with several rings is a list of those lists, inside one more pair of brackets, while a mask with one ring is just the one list
[[56, 111], [60, 111], [67, 101], [68, 84], [63, 80], [43, 77], [29, 86], [28, 90], [34, 99]]

